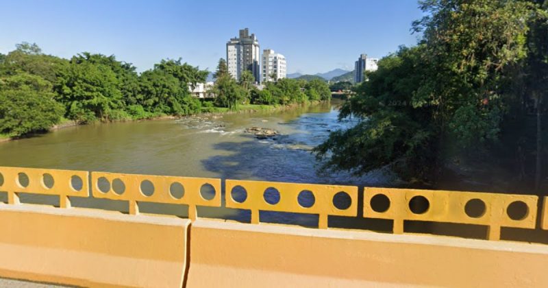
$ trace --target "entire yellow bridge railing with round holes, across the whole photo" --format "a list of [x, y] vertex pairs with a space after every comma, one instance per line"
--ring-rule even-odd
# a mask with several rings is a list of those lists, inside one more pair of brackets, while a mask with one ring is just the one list
[[[123, 200], [129, 213], [138, 214], [140, 202], [183, 204], [188, 217], [198, 217], [197, 206], [221, 207], [219, 178], [151, 176], [127, 173], [0, 167], [0, 192], [8, 204], [19, 204], [21, 193], [58, 195], [60, 207], [70, 208], [71, 197]], [[358, 187], [225, 180], [225, 207], [319, 215], [319, 228], [329, 216], [358, 216]], [[488, 239], [499, 240], [501, 227], [536, 228], [538, 196], [462, 191], [430, 191], [365, 187], [363, 217], [393, 220], [393, 232], [403, 233], [403, 222], [434, 221], [488, 227]], [[540, 228], [548, 230], [548, 197], [543, 199]]]

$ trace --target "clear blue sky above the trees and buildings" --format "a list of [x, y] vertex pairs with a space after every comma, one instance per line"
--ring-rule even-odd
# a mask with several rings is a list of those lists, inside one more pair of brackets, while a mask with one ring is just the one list
[[381, 58], [414, 45], [417, 7], [416, 0], [0, 0], [0, 53], [27, 41], [64, 58], [114, 54], [138, 71], [179, 57], [213, 71], [227, 40], [249, 27], [261, 49], [286, 56], [288, 73], [351, 70], [360, 53]]

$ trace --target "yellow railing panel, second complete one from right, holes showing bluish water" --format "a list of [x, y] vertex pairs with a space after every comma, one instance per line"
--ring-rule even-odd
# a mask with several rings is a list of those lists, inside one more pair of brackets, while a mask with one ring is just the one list
[[[235, 197], [236, 189], [245, 196]], [[259, 211], [318, 214], [319, 228], [327, 228], [328, 215], [358, 215], [358, 187], [226, 180], [226, 191], [227, 207], [251, 210], [253, 224], [260, 222]], [[343, 206], [334, 203], [338, 197]]]

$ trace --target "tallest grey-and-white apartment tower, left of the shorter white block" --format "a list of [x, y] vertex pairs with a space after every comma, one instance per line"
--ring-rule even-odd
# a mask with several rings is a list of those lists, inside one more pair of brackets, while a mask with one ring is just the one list
[[260, 81], [260, 47], [255, 34], [249, 35], [249, 29], [241, 29], [238, 38], [227, 42], [227, 68], [234, 79], [240, 80], [245, 70], [251, 71], [255, 81]]

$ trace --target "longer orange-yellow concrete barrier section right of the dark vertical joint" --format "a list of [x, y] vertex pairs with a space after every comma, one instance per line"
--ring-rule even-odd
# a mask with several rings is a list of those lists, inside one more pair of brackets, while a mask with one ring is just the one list
[[543, 287], [548, 246], [198, 219], [188, 287]]

